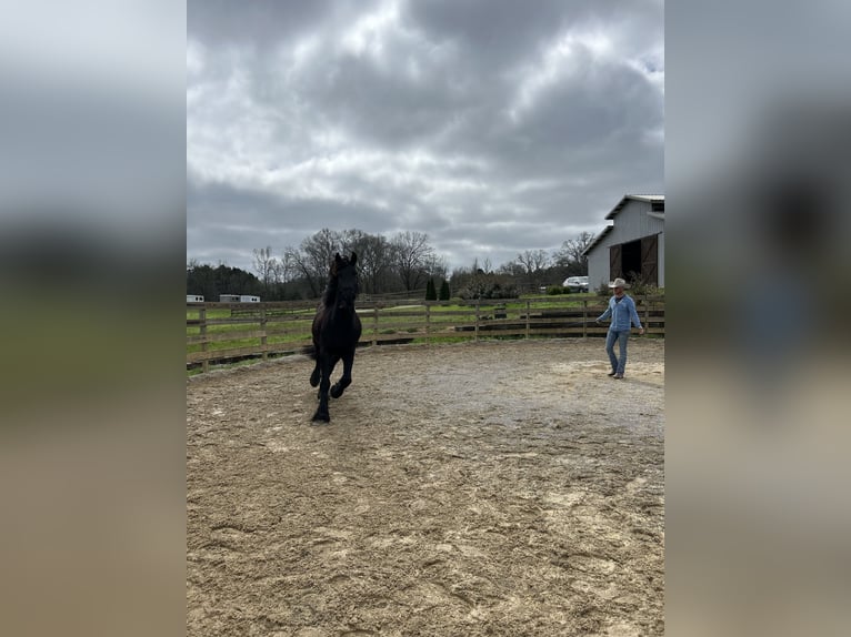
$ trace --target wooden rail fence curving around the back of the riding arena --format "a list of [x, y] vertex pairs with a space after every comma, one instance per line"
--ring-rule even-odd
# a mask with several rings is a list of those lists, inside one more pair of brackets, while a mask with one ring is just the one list
[[[635, 296], [647, 334], [664, 336], [664, 297]], [[504, 301], [358, 302], [363, 324], [359, 346], [482, 338], [594, 337], [607, 324], [594, 320], [608, 299], [571, 295]], [[316, 301], [188, 303], [187, 368], [266, 360], [310, 345]]]

